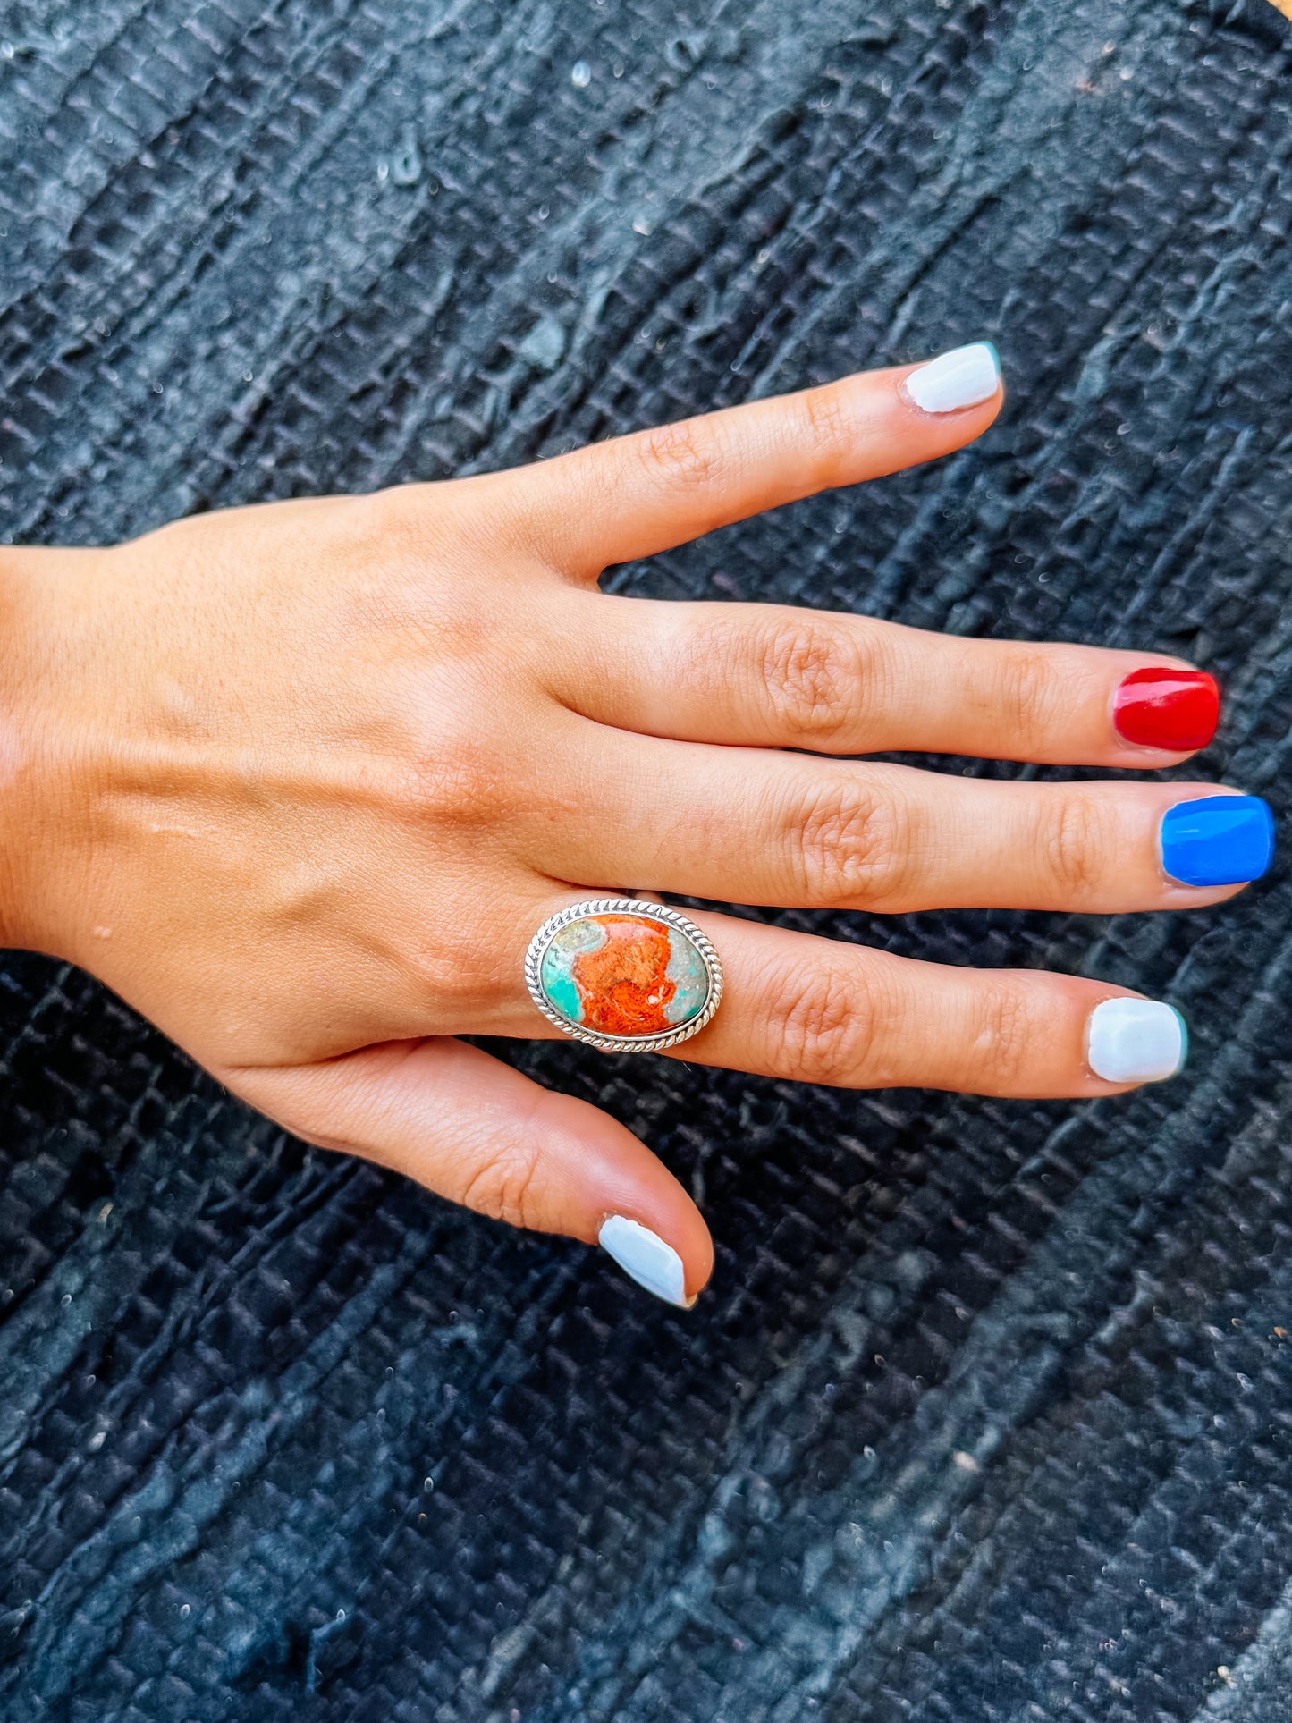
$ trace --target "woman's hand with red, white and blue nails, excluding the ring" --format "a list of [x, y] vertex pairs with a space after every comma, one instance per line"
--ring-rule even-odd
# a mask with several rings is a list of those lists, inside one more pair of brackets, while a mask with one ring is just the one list
[[[999, 405], [968, 348], [515, 472], [3, 553], [7, 941], [81, 963], [312, 1142], [522, 1227], [634, 1222], [606, 1244], [687, 1303], [711, 1246], [649, 1149], [450, 1039], [555, 1034], [524, 982], [548, 915], [624, 889], [1178, 910], [1268, 860], [1251, 798], [1177, 815], [1163, 851], [1206, 784], [832, 758], [1173, 765], [1214, 725], [1213, 684], [1175, 660], [596, 589], [610, 563], [960, 448]], [[1092, 1011], [1130, 998], [1099, 982], [696, 922], [727, 991], [691, 1061], [1006, 1096], [1175, 1063], [1166, 1008], [1135, 1032], [1106, 1011], [1090, 1042]]]

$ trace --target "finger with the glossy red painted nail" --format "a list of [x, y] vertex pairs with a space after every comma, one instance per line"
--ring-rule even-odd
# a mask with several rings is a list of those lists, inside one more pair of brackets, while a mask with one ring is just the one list
[[1209, 675], [1156, 653], [582, 591], [556, 600], [555, 620], [558, 700], [687, 741], [1146, 767], [1204, 748], [1220, 713]]

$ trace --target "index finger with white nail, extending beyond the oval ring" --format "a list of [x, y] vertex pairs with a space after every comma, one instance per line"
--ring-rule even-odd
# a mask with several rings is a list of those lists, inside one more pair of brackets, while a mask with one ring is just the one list
[[670, 1056], [846, 1089], [1097, 1096], [1171, 1077], [1183, 1020], [1125, 989], [961, 970], [696, 915], [722, 956], [713, 1022]]

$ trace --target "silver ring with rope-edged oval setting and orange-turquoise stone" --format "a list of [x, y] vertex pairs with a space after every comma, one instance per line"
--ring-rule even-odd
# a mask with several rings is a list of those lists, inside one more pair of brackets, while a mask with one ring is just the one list
[[596, 898], [539, 927], [525, 986], [550, 1023], [603, 1053], [662, 1053], [699, 1034], [722, 963], [694, 922], [662, 903]]

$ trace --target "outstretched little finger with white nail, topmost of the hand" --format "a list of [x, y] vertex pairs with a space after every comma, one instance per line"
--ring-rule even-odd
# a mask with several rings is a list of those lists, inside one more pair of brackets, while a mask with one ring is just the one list
[[510, 477], [562, 567], [586, 579], [763, 508], [935, 460], [1001, 410], [985, 343], [858, 372], [575, 450]]

